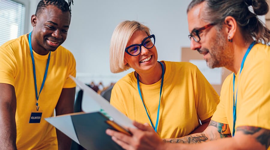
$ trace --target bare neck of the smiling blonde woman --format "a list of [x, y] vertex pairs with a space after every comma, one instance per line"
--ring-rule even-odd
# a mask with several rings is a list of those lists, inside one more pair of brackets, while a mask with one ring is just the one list
[[[163, 63], [163, 62], [161, 62]], [[164, 72], [165, 72], [165, 64]], [[139, 81], [143, 84], [150, 85], [158, 82], [162, 78], [162, 66], [159, 62], [155, 65], [155, 67], [151, 70], [147, 71], [135, 71], [135, 76], [137, 78], [137, 73], [139, 73]]]

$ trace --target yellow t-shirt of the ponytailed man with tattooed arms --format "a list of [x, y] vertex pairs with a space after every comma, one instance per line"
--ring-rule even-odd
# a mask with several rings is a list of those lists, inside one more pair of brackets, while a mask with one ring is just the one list
[[[270, 47], [256, 44], [244, 62], [240, 78], [235, 75], [235, 96], [238, 85], [235, 130], [239, 126], [270, 129]], [[212, 120], [233, 128], [233, 73], [227, 76], [220, 92], [220, 103]]]

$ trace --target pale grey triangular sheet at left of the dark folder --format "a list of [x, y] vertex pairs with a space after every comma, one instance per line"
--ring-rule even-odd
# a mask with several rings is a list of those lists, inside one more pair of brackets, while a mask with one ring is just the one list
[[58, 130], [66, 134], [72, 140], [80, 144], [76, 132], [74, 130], [74, 126], [70, 115], [49, 117], [45, 118], [45, 120], [50, 124], [52, 124], [53, 126], [55, 126], [55, 128], [57, 128]]

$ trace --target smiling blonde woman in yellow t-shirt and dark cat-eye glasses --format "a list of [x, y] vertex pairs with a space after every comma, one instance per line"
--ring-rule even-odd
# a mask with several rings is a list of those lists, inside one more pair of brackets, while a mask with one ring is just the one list
[[116, 109], [149, 123], [161, 138], [183, 137], [208, 126], [219, 103], [216, 91], [195, 65], [159, 62], [155, 35], [137, 21], [121, 22], [110, 44], [111, 72], [129, 68], [135, 71], [112, 90], [110, 103]]

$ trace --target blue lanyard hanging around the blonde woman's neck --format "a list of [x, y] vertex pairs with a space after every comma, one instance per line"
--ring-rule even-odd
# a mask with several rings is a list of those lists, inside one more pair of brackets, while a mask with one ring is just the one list
[[[152, 121], [151, 121], [151, 119], [150, 119], [150, 117], [149, 117], [149, 115], [148, 115], [148, 112], [147, 112], [147, 110], [146, 110], [145, 104], [143, 103], [143, 106], [144, 106], [144, 108], [145, 108], [145, 111], [146, 111], [146, 114], [147, 114], [147, 116], [148, 116], [148, 119], [150, 120], [151, 125], [152, 125], [152, 127], [155, 129], [156, 132], [157, 132], [157, 128], [158, 128], [159, 109], [160, 109], [160, 99], [161, 99], [161, 92], [162, 92], [162, 86], [163, 86], [163, 80], [164, 80], [164, 66], [163, 66], [163, 64], [162, 64], [160, 61], [158, 61], [158, 62], [159, 62], [159, 63], [161, 64], [161, 66], [162, 66], [162, 79], [161, 79], [161, 86], [160, 86], [160, 95], [159, 95], [159, 104], [158, 104], [158, 114], [157, 114], [157, 120], [156, 120], [156, 125], [155, 125], [155, 127], [154, 127], [154, 125], [153, 125], [153, 123], [152, 123]], [[140, 81], [139, 81], [139, 74], [138, 74], [138, 73], [137, 73], [137, 85], [138, 85], [138, 91], [139, 91], [140, 97], [141, 97], [142, 102], [143, 102], [143, 98], [142, 98], [142, 94], [141, 94], [141, 90], [140, 90]]]

